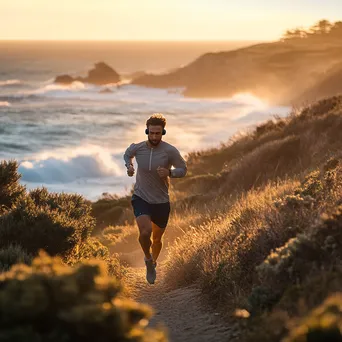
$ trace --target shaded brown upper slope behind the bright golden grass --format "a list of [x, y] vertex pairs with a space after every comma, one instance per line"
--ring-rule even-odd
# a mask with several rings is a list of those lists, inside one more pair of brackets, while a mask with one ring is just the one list
[[173, 180], [173, 187], [188, 196], [216, 198], [218, 192], [240, 193], [269, 181], [304, 176], [341, 151], [341, 131], [342, 97], [322, 100], [272, 125], [260, 125], [220, 149], [190, 154], [191, 176]]

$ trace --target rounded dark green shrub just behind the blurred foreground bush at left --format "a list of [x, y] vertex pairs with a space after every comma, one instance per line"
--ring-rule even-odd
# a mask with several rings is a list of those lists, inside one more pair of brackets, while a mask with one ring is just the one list
[[33, 192], [0, 217], [0, 247], [14, 243], [33, 255], [44, 249], [64, 256], [86, 241], [95, 220], [81, 196], [53, 195], [50, 203], [43, 195], [49, 197]]

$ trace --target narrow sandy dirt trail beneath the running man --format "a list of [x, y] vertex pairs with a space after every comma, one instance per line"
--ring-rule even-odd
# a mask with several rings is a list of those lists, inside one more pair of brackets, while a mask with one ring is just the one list
[[156, 283], [148, 284], [145, 280], [145, 267], [137, 263], [136, 256], [137, 254], [134, 254], [136, 267], [130, 268], [127, 281], [133, 289], [133, 298], [153, 307], [155, 315], [150, 327], [156, 327], [158, 324], [166, 326], [171, 342], [234, 340], [234, 329], [223, 322], [219, 313], [204, 307], [198, 288], [190, 286], [168, 291], [163, 281], [162, 264], [157, 268]]

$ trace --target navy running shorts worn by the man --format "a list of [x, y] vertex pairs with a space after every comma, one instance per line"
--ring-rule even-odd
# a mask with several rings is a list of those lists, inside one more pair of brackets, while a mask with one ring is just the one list
[[133, 194], [131, 203], [135, 217], [148, 215], [159, 228], [166, 228], [170, 215], [170, 202], [151, 204]]

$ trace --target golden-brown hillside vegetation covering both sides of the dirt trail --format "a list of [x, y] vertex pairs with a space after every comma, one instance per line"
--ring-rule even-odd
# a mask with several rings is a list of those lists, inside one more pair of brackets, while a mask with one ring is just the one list
[[[190, 153], [172, 179], [165, 283], [199, 286], [239, 326], [231, 340], [341, 339], [341, 132], [342, 96], [328, 98]], [[0, 340], [87, 340], [96, 316], [102, 341], [164, 341], [118, 282], [139, 248], [130, 196], [27, 192], [17, 167], [0, 164]]]

